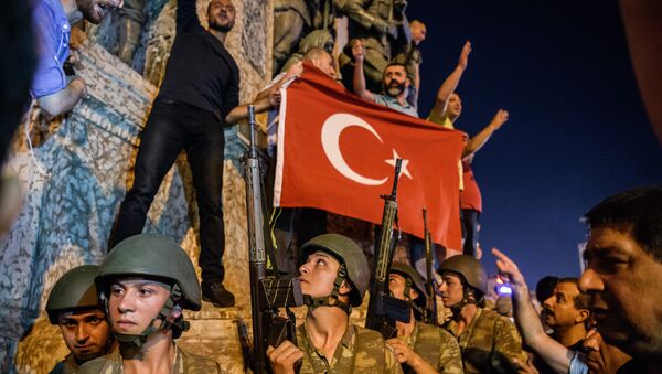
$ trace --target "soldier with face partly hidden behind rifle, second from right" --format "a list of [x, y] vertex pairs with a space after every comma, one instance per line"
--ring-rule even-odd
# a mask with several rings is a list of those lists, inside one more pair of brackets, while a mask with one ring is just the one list
[[[420, 322], [426, 299], [420, 275], [409, 265], [393, 263], [388, 275], [391, 293], [410, 304], [408, 323], [395, 322], [398, 338], [388, 340], [405, 373], [463, 373], [460, 346], [448, 331]], [[434, 296], [433, 296], [434, 297]]]

